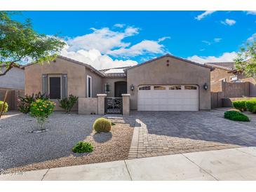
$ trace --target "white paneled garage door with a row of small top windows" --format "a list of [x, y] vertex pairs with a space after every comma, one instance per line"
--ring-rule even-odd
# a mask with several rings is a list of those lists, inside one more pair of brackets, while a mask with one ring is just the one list
[[198, 86], [143, 85], [137, 102], [138, 111], [198, 111]]

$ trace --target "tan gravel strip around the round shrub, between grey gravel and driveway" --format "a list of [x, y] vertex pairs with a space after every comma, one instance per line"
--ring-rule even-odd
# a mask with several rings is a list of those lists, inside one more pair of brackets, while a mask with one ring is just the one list
[[94, 150], [92, 153], [72, 153], [72, 149], [70, 149], [71, 153], [69, 156], [24, 165], [21, 167], [13, 167], [8, 170], [11, 172], [41, 170], [53, 167], [125, 160], [128, 158], [132, 137], [133, 128], [130, 127], [130, 125], [116, 123], [116, 125], [112, 126], [112, 130], [110, 132], [96, 133], [93, 131], [88, 137], [86, 137], [86, 139], [83, 140], [84, 142], [90, 142], [93, 144]]

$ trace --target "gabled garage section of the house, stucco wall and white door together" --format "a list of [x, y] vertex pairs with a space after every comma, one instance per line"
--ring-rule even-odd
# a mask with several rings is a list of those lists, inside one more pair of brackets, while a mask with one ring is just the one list
[[130, 109], [210, 110], [210, 71], [204, 64], [164, 55], [126, 69]]

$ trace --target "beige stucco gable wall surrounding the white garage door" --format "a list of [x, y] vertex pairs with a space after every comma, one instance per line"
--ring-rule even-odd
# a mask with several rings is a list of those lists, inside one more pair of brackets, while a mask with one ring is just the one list
[[[169, 66], [166, 65], [169, 60]], [[210, 69], [196, 64], [177, 60], [173, 57], [162, 57], [159, 60], [143, 64], [127, 71], [128, 93], [130, 93], [131, 109], [137, 109], [137, 87], [139, 85], [188, 84], [199, 87], [199, 109], [210, 109]], [[203, 84], [208, 84], [208, 90]], [[130, 90], [130, 85], [135, 90]]]

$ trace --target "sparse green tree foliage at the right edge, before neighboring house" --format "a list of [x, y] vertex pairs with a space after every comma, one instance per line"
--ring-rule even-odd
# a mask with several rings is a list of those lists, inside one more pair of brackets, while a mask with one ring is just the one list
[[242, 47], [234, 61], [238, 71], [245, 76], [256, 78], [256, 41]]

